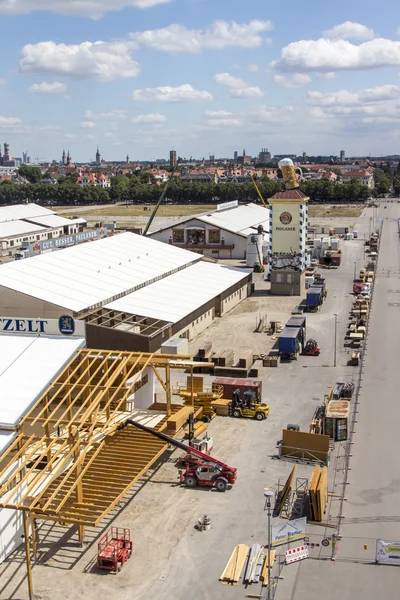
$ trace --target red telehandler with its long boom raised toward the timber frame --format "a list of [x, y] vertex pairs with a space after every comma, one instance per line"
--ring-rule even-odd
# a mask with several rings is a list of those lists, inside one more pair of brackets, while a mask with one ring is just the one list
[[184, 483], [186, 487], [194, 488], [201, 485], [205, 487], [215, 487], [219, 492], [225, 492], [228, 486], [235, 483], [237, 471], [234, 467], [230, 467], [209, 454], [205, 454], [200, 450], [196, 450], [191, 446], [178, 442], [178, 440], [169, 437], [169, 435], [161, 433], [161, 431], [150, 429], [149, 427], [146, 427], [146, 425], [137, 423], [132, 419], [127, 419], [124, 423], [118, 425], [117, 431], [124, 429], [128, 425], [142, 429], [142, 431], [146, 431], [176, 448], [185, 450], [187, 454], [199, 459], [198, 465], [187, 465], [185, 472], [180, 473], [180, 481], [181, 483]]

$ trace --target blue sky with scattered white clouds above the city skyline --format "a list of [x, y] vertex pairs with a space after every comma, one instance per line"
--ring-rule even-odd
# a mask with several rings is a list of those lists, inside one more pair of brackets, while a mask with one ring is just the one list
[[399, 28], [393, 0], [0, 0], [0, 142], [77, 161], [399, 152]]

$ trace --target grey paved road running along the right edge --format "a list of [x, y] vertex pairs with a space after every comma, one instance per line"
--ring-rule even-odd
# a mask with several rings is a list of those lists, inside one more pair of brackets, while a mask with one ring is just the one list
[[398, 598], [400, 569], [375, 565], [376, 539], [400, 540], [400, 205], [383, 203], [377, 266], [359, 413], [350, 459], [343, 540], [335, 562], [309, 560], [283, 571], [277, 598]]

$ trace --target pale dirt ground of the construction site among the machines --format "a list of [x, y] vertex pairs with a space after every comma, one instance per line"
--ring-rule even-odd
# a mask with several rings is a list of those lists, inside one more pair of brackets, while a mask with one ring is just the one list
[[[367, 218], [367, 217], [365, 217]], [[365, 221], [368, 223], [368, 221]], [[367, 226], [367, 225], [366, 225]], [[360, 228], [359, 228], [360, 229]], [[322, 347], [319, 357], [299, 357], [278, 368], [260, 368], [263, 397], [271, 407], [270, 417], [261, 423], [217, 417], [208, 429], [214, 439], [213, 454], [238, 469], [238, 480], [231, 490], [219, 494], [210, 490], [185, 489], [177, 484], [175, 451], [159, 462], [138, 482], [127, 497], [97, 529], [86, 531], [86, 544], [78, 545], [76, 531], [45, 523], [39, 532], [38, 560], [33, 569], [36, 600], [241, 600], [248, 592], [259, 594], [260, 586], [250, 589], [223, 586], [218, 578], [238, 543], [266, 543], [266, 513], [263, 490], [275, 490], [286, 480], [292, 464], [271, 460], [276, 442], [287, 423], [297, 423], [303, 431], [315, 408], [335, 381], [348, 381], [355, 369], [348, 366], [348, 351], [342, 346], [347, 329], [347, 314], [352, 303], [351, 282], [354, 261], [363, 261], [363, 242], [343, 242], [343, 264], [338, 270], [324, 271], [329, 289], [320, 313], [307, 315], [307, 337], [315, 337]], [[298, 297], [266, 295], [268, 284], [256, 276], [256, 293], [222, 319], [218, 319], [190, 344], [197, 352], [211, 340], [216, 350], [252, 349], [267, 353], [273, 340], [255, 333], [257, 314], [267, 320], [286, 322]], [[339, 351], [333, 366], [334, 313], [339, 315]], [[182, 378], [186, 375], [182, 374]], [[205, 382], [211, 377], [204, 376]], [[338, 448], [340, 454], [340, 448]], [[310, 478], [312, 467], [301, 465], [297, 475]], [[330, 469], [330, 489], [342, 473], [337, 460]], [[339, 489], [339, 488], [337, 488]], [[326, 519], [334, 518], [338, 502], [330, 502]], [[211, 530], [198, 533], [198, 518], [208, 514]], [[95, 568], [98, 538], [111, 525], [130, 527], [134, 555], [118, 575]], [[330, 535], [332, 530], [310, 530], [310, 541]], [[286, 548], [284, 548], [286, 549]], [[322, 551], [322, 550], [321, 550]], [[326, 550], [329, 556], [331, 549]], [[320, 550], [318, 550], [320, 552]], [[0, 565], [0, 600], [27, 598], [24, 550], [20, 548]], [[279, 590], [278, 590], [279, 597]]]

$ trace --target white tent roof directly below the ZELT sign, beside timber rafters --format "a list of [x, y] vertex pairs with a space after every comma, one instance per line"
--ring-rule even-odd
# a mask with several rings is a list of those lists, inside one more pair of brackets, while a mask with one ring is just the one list
[[0, 335], [0, 426], [15, 427], [84, 338]]

